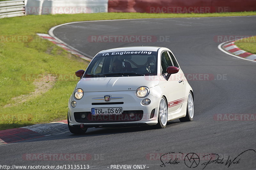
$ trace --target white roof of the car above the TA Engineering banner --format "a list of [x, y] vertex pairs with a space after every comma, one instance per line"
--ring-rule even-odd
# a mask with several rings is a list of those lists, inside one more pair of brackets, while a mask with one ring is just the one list
[[100, 53], [111, 53], [118, 51], [156, 51], [162, 47], [157, 46], [129, 46], [129, 47], [120, 47], [120, 48], [111, 48], [108, 50], [103, 50]]

